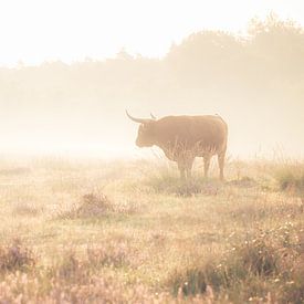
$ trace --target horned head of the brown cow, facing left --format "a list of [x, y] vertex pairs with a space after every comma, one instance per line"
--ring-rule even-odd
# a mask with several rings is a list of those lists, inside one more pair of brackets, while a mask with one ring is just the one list
[[135, 118], [128, 114], [126, 111], [127, 116], [135, 123], [140, 124], [138, 127], [138, 134], [136, 138], [136, 145], [138, 147], [151, 147], [156, 143], [155, 138], [155, 117], [151, 115], [150, 118]]

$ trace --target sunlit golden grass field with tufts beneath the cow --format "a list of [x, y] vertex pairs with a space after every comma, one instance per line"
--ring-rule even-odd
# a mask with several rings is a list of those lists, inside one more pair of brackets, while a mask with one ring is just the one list
[[302, 167], [2, 159], [0, 303], [303, 303]]

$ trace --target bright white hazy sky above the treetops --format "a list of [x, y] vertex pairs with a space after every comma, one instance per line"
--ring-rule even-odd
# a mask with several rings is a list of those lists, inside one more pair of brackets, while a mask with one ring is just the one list
[[0, 0], [0, 65], [161, 56], [191, 32], [244, 32], [271, 11], [304, 25], [303, 0]]

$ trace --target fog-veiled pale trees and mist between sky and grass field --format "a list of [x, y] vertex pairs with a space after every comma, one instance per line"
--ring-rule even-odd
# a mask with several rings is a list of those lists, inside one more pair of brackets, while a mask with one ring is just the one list
[[[101, 38], [102, 39], [102, 38]], [[304, 30], [270, 15], [244, 35], [198, 31], [164, 57], [0, 67], [2, 153], [138, 155], [134, 116], [219, 114], [229, 154], [303, 156]]]

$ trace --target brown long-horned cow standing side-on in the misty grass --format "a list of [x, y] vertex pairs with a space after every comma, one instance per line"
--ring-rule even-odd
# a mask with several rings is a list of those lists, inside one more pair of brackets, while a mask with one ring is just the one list
[[135, 118], [128, 113], [127, 116], [140, 124], [136, 145], [158, 146], [170, 160], [177, 161], [182, 179], [191, 177], [196, 157], [203, 157], [207, 178], [210, 159], [218, 155], [223, 180], [228, 126], [219, 115], [166, 116], [158, 120], [153, 115], [153, 119]]

